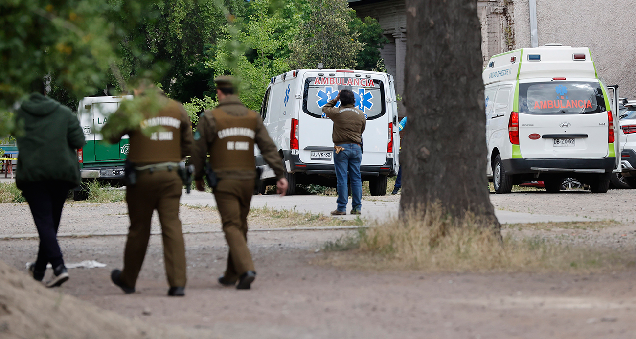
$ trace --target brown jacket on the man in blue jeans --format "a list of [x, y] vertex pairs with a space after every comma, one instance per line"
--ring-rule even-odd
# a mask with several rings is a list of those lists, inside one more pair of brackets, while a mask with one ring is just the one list
[[329, 101], [322, 111], [333, 120], [333, 144], [359, 144], [362, 142], [362, 134], [366, 127], [364, 113], [355, 108], [354, 104], [336, 106], [336, 100]]

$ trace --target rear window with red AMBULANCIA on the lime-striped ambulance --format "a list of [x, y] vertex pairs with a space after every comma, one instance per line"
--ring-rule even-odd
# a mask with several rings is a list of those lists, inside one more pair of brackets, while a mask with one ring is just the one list
[[598, 81], [550, 81], [519, 84], [519, 113], [594, 114], [606, 111]]

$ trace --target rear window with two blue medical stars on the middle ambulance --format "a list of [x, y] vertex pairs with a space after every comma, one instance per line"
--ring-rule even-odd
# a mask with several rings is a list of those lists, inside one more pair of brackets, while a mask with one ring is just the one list
[[322, 107], [334, 99], [339, 90], [345, 88], [354, 92], [356, 108], [364, 112], [366, 120], [374, 120], [384, 115], [386, 109], [382, 80], [333, 76], [309, 77], [305, 80], [303, 111], [314, 118], [328, 119], [326, 114], [322, 113]]

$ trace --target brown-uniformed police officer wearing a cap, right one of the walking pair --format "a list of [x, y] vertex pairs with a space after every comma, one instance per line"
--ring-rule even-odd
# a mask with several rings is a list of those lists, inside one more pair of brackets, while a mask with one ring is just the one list
[[202, 178], [207, 153], [210, 154], [211, 169], [218, 178], [212, 192], [230, 247], [228, 265], [225, 274], [219, 277], [219, 283], [249, 289], [256, 278], [252, 256], [247, 249], [247, 214], [256, 180], [254, 142], [276, 174], [280, 195], [287, 190], [287, 180], [283, 176], [282, 159], [261, 117], [243, 106], [235, 94], [235, 80], [230, 76], [219, 76], [214, 82], [219, 105], [199, 118], [194, 136], [195, 152], [190, 161], [195, 165], [197, 190], [204, 190]]

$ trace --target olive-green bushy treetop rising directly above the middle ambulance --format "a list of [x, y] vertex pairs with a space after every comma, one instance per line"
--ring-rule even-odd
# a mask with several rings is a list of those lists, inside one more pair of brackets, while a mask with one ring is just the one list
[[289, 44], [293, 69], [354, 69], [364, 43], [350, 32], [351, 10], [345, 0], [308, 0], [308, 20]]

